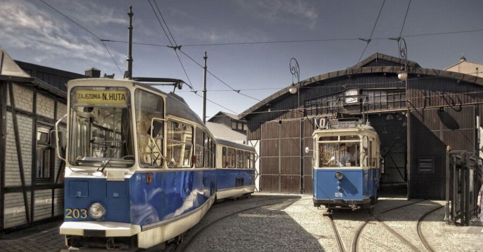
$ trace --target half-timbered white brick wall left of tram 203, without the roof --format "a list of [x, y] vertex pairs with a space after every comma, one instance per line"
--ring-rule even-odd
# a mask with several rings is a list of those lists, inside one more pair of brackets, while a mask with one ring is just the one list
[[[0, 82], [2, 133], [0, 139], [0, 230], [28, 225], [64, 212], [63, 165], [56, 157], [54, 143], [44, 146], [49, 151], [37, 156], [40, 128], [51, 133], [57, 118], [67, 111], [64, 99], [51, 96], [21, 82]], [[65, 132], [65, 122], [61, 126]], [[49, 134], [50, 135], [50, 134]], [[64, 142], [65, 142], [65, 135]], [[2, 140], [4, 144], [2, 144]], [[50, 142], [49, 139], [46, 141]], [[40, 152], [44, 153], [44, 152]], [[48, 171], [42, 173], [42, 158], [49, 160]], [[3, 162], [2, 162], [3, 161]], [[47, 161], [45, 161], [47, 162]]]

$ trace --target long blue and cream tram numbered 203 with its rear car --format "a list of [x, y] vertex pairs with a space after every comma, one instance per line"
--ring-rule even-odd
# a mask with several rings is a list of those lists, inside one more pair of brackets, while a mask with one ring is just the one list
[[[219, 146], [176, 94], [106, 78], [72, 80], [68, 93], [68, 247], [149, 248], [196, 225], [217, 195], [253, 193], [254, 149]], [[222, 165], [225, 148], [242, 167]]]

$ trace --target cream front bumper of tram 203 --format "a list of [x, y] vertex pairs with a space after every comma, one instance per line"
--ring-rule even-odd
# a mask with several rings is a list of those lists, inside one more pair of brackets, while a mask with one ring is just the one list
[[119, 222], [64, 222], [61, 234], [90, 237], [123, 237], [141, 232], [141, 226]]

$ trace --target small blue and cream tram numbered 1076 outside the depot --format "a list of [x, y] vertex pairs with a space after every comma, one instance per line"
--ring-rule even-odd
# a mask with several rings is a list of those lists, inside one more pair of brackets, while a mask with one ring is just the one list
[[314, 141], [314, 206], [369, 208], [379, 188], [379, 137], [363, 120], [330, 120]]

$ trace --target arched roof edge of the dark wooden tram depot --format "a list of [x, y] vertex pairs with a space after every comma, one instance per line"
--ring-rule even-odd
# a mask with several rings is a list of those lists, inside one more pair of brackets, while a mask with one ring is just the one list
[[[371, 74], [371, 73], [398, 73], [401, 72], [401, 66], [408, 66], [408, 72], [412, 74], [421, 74], [427, 76], [439, 76], [444, 78], [450, 78], [455, 80], [461, 80], [469, 83], [474, 83], [483, 86], [483, 78], [476, 77], [469, 74], [462, 74], [444, 70], [421, 68], [419, 64], [414, 61], [404, 60], [402, 58], [386, 55], [383, 53], [374, 53], [366, 59], [360, 61], [357, 65], [347, 68], [345, 70], [339, 70], [334, 72], [329, 72], [321, 75], [316, 75], [310, 77], [306, 80], [300, 81], [301, 86], [313, 85], [319, 81], [329, 80], [337, 77], [355, 75], [355, 74]], [[238, 116], [240, 119], [247, 119], [247, 117], [252, 112], [256, 112], [267, 104], [274, 102], [275, 100], [281, 99], [282, 97], [288, 95], [290, 86], [283, 88], [282, 90], [275, 92], [271, 96], [263, 99], [261, 102], [253, 105], [249, 109], [241, 112]]]

